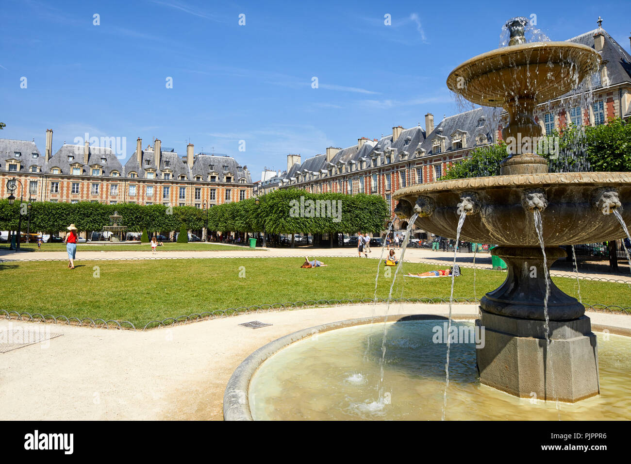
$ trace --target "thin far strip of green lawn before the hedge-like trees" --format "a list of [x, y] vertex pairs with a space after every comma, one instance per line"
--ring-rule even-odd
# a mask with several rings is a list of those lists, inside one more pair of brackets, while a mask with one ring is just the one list
[[[8, 245], [0, 246], [0, 250], [8, 250]], [[35, 243], [21, 243], [20, 249], [22, 251], [37, 252], [37, 244]], [[259, 248], [260, 249], [260, 248]], [[157, 248], [158, 251], [208, 251], [208, 250], [222, 250], [222, 251], [247, 251], [251, 250], [246, 246], [230, 246], [221, 245], [215, 243], [204, 242], [191, 242], [191, 243], [175, 243], [166, 242], [163, 246]], [[65, 243], [44, 243], [42, 244], [42, 251], [66, 251]], [[91, 245], [86, 243], [77, 244], [77, 253], [81, 251], [147, 251], [151, 253], [151, 245], [148, 243], [143, 244], [115, 244], [115, 245]], [[81, 258], [80, 254], [77, 258]]]

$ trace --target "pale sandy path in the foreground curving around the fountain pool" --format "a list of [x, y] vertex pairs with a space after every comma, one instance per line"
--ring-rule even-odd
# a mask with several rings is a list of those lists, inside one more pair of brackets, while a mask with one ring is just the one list
[[[392, 305], [396, 314], [444, 316], [448, 305]], [[454, 314], [475, 316], [458, 304]], [[3, 420], [162, 420], [223, 418], [232, 372], [254, 350], [297, 330], [345, 319], [381, 316], [385, 305], [338, 306], [241, 314], [151, 331], [0, 321], [3, 331], [27, 328], [62, 336], [0, 353]], [[593, 324], [631, 329], [631, 316], [589, 312]], [[252, 330], [238, 324], [273, 325]]]

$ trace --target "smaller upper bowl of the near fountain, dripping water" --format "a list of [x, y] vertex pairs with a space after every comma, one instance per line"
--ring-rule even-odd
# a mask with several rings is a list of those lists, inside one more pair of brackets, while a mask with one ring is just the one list
[[598, 52], [582, 44], [510, 45], [465, 61], [451, 71], [447, 87], [483, 106], [505, 107], [521, 98], [545, 102], [576, 88], [600, 62]]

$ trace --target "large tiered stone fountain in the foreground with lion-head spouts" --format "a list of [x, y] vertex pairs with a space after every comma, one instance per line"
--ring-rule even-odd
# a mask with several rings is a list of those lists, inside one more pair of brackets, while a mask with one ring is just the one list
[[[507, 23], [509, 46], [469, 59], [447, 78], [447, 86], [471, 102], [504, 107], [509, 116], [504, 140], [541, 136], [536, 105], [570, 92], [601, 62], [586, 45], [526, 43], [526, 21]], [[486, 333], [485, 347], [476, 350], [481, 383], [540, 400], [577, 402], [599, 394], [591, 321], [584, 306], [550, 280], [544, 263], [549, 269], [565, 256], [561, 245], [625, 236], [612, 213], [631, 221], [631, 173], [548, 173], [545, 158], [517, 147], [498, 176], [410, 186], [395, 198], [396, 214], [418, 213], [420, 229], [455, 238], [464, 211], [461, 239], [499, 245], [492, 254], [507, 263], [507, 277], [481, 299], [476, 321]]]

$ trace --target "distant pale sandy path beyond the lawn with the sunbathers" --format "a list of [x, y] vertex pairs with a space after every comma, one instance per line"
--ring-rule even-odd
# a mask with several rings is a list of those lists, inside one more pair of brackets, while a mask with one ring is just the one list
[[[314, 247], [296, 247], [296, 248], [257, 248], [254, 250], [240, 249], [235, 251], [231, 249], [236, 246], [227, 246], [224, 250], [209, 251], [158, 251], [152, 255], [151, 251], [90, 251], [90, 245], [79, 245], [77, 250], [77, 259], [165, 259], [165, 258], [271, 258], [279, 256], [295, 256], [310, 258], [317, 256], [318, 258], [326, 258], [326, 256], [357, 256], [355, 247], [339, 247], [339, 248], [314, 248]], [[400, 256], [401, 250], [396, 250], [397, 256]], [[381, 249], [373, 249], [369, 253], [370, 258], [379, 258]], [[4, 261], [24, 261], [31, 259], [66, 259], [65, 251], [0, 251], [0, 260]], [[433, 251], [425, 248], [410, 248], [405, 252], [405, 259], [413, 263], [431, 262], [436, 263], [437, 267], [448, 267], [454, 259], [454, 253], [447, 251]], [[473, 266], [473, 253], [457, 253], [457, 263], [462, 265]], [[488, 252], [476, 253], [475, 265], [479, 268], [490, 269], [491, 255]], [[631, 272], [626, 263], [618, 263], [619, 271], [612, 273], [609, 270], [608, 261], [579, 261], [579, 274], [583, 277], [591, 278], [608, 278], [631, 282]], [[574, 268], [572, 263], [559, 259], [552, 266], [552, 275], [574, 277]]]

